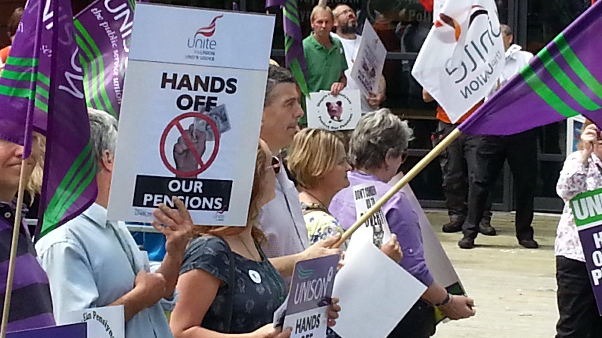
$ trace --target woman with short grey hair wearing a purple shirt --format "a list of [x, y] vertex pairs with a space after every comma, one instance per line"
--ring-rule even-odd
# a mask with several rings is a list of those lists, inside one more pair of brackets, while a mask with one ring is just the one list
[[[330, 203], [329, 210], [349, 229], [356, 220], [353, 186], [372, 183], [377, 195], [384, 195], [391, 185], [387, 182], [399, 171], [405, 159], [412, 129], [407, 121], [400, 120], [389, 109], [380, 109], [364, 115], [349, 141], [349, 162], [353, 167], [347, 178], [350, 186], [341, 190]], [[389, 337], [423, 338], [435, 333], [433, 306], [450, 319], [474, 316], [473, 300], [450, 295], [441, 284], [433, 280], [424, 260], [424, 248], [418, 215], [403, 192], [397, 192], [382, 207], [391, 233], [397, 235], [402, 247], [402, 268], [427, 286], [421, 299], [397, 325]], [[383, 230], [375, 228], [373, 242], [382, 245]]]

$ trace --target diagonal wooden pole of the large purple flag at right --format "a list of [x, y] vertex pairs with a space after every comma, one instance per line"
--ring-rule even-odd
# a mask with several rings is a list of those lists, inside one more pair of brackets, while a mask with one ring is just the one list
[[408, 182], [414, 179], [414, 177], [416, 177], [418, 173], [420, 173], [420, 171], [426, 168], [426, 166], [429, 165], [429, 163], [432, 162], [433, 159], [435, 159], [445, 148], [447, 148], [447, 146], [450, 145], [450, 143], [456, 140], [456, 138], [458, 138], [460, 135], [462, 135], [462, 132], [458, 128], [450, 132], [450, 134], [447, 135], [447, 137], [445, 137], [443, 140], [441, 140], [441, 142], [439, 142], [439, 144], [437, 144], [433, 148], [433, 150], [431, 150], [426, 156], [424, 156], [424, 158], [421, 159], [420, 162], [414, 165], [414, 168], [408, 171], [408, 173], [406, 173], [405, 176], [403, 176], [403, 178], [399, 182], [397, 182], [391, 189], [389, 189], [389, 191], [387, 191], [386, 194], [383, 195], [383, 197], [380, 197], [380, 199], [376, 201], [376, 204], [374, 204], [370, 209], [368, 209], [368, 211], [364, 215], [362, 215], [362, 217], [355, 221], [355, 223], [353, 223], [353, 225], [349, 229], [347, 229], [345, 233], [343, 233], [343, 236], [341, 236], [341, 239], [337, 242], [337, 244], [334, 245], [334, 247], [340, 247], [341, 244], [343, 244], [343, 242], [347, 240], [347, 238], [353, 235], [355, 230], [358, 230], [359, 227], [362, 226], [362, 224], [368, 221], [368, 218], [372, 217], [372, 215], [374, 215], [375, 212], [377, 212], [383, 205], [385, 205], [385, 203], [389, 201], [389, 199], [391, 199], [393, 195], [400, 191], [403, 188], [403, 186], [405, 186]]

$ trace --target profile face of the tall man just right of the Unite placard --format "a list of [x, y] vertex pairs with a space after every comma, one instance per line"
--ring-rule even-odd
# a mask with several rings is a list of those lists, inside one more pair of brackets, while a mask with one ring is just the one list
[[272, 150], [290, 146], [303, 116], [297, 84], [277, 84], [268, 97], [261, 118], [261, 140]]

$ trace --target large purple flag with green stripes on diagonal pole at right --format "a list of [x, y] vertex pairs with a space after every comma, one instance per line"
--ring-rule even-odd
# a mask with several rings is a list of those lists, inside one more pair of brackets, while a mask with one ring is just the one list
[[602, 2], [548, 43], [458, 129], [510, 135], [576, 115], [602, 127]]

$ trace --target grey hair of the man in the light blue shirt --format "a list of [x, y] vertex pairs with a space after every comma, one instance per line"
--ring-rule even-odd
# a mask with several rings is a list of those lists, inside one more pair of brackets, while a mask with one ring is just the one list
[[117, 119], [108, 112], [88, 108], [90, 119], [90, 138], [92, 139], [92, 152], [95, 163], [102, 161], [102, 155], [108, 150], [111, 155], [115, 153], [117, 143]]

